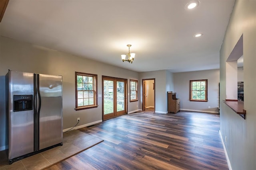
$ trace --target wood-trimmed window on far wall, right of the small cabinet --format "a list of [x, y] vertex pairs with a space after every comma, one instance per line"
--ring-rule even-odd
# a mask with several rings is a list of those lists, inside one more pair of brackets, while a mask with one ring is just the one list
[[207, 102], [207, 80], [190, 80], [190, 101]]

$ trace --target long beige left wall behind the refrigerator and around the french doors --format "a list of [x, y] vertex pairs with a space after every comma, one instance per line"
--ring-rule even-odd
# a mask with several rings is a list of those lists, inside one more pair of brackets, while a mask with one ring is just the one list
[[[0, 37], [0, 150], [6, 145], [6, 111], [4, 105], [4, 76], [8, 69], [22, 72], [54, 74], [63, 76], [63, 129], [76, 125], [86, 125], [102, 121], [102, 98], [98, 97], [98, 107], [75, 111], [75, 72], [85, 72], [98, 75], [98, 94], [102, 94], [102, 75], [117, 78], [138, 80], [138, 72], [116, 66], [99, 63], [82, 57], [47, 49], [30, 43], [20, 42], [6, 37]], [[121, 64], [122, 60], [120, 60]], [[128, 90], [130, 84], [128, 83]], [[140, 98], [140, 97], [139, 97]], [[2, 102], [3, 101], [3, 102]], [[139, 102], [129, 102], [128, 112], [138, 109]]]

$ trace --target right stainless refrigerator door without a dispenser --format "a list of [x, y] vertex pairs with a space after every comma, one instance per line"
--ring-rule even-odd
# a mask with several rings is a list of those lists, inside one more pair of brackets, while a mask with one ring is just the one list
[[62, 143], [62, 76], [37, 74], [39, 149]]

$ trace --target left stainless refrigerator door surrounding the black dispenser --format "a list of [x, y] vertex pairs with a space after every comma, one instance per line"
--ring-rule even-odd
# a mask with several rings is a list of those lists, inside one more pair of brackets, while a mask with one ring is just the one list
[[34, 96], [34, 74], [9, 71], [7, 75], [9, 159], [12, 159], [34, 151], [34, 107], [33, 110], [14, 111], [14, 96]]

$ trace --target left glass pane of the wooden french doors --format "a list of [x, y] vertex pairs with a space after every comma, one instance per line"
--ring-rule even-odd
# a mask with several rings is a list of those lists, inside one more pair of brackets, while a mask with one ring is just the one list
[[114, 81], [104, 80], [104, 115], [114, 112]]

